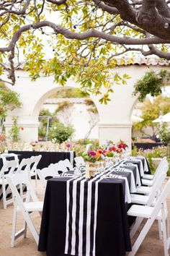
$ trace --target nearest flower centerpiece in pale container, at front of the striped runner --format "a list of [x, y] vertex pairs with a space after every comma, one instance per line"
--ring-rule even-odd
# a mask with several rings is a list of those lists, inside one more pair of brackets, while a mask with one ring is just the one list
[[100, 162], [104, 155], [100, 150], [93, 151], [89, 150], [83, 153], [84, 161], [86, 161], [86, 179], [89, 179], [95, 176], [97, 168], [99, 168]]

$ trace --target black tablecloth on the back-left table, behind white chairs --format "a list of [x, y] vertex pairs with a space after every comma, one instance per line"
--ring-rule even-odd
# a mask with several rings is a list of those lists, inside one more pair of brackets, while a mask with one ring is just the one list
[[[50, 163], [57, 163], [58, 161], [68, 158], [70, 160], [70, 152], [45, 152], [45, 151], [9, 151], [9, 153], [15, 153], [21, 155], [22, 158], [30, 158], [32, 155], [42, 155], [37, 168], [48, 167]], [[73, 152], [73, 158], [75, 157], [75, 152]]]

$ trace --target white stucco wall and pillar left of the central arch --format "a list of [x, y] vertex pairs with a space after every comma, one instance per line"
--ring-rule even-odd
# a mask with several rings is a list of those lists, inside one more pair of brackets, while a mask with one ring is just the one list
[[[38, 137], [38, 116], [40, 108], [45, 100], [63, 87], [53, 82], [53, 77], [40, 77], [35, 82], [31, 82], [29, 74], [23, 70], [17, 71], [17, 81], [14, 87], [9, 86], [20, 94], [22, 108], [9, 111], [6, 121], [6, 134], [11, 129], [13, 121], [12, 116], [18, 116], [17, 124], [23, 127], [20, 131], [20, 137], [25, 142], [37, 140]], [[73, 80], [68, 80], [64, 88], [77, 88], [78, 85]]]

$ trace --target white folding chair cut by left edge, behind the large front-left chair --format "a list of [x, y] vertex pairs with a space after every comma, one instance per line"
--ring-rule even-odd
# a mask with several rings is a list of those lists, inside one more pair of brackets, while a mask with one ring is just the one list
[[4, 209], [6, 209], [7, 205], [14, 202], [13, 195], [12, 198], [7, 199], [7, 194], [8, 192], [10, 192], [10, 190], [8, 189], [8, 187], [6, 188], [6, 185], [8, 184], [8, 182], [6, 181], [6, 175], [9, 173], [12, 174], [14, 170], [17, 168], [17, 166], [18, 161], [16, 160], [5, 161], [0, 171], [0, 185], [2, 186], [2, 198]]

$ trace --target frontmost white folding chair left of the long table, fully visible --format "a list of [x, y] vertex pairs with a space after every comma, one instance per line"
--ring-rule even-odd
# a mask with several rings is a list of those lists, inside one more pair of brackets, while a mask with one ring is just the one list
[[[14, 215], [13, 215], [13, 223], [12, 223], [12, 247], [14, 247], [14, 241], [19, 236], [26, 237], [27, 226], [29, 227], [32, 236], [34, 236], [35, 242], [38, 244], [39, 234], [37, 229], [30, 218], [30, 213], [32, 212], [42, 212], [43, 202], [37, 200], [37, 196], [35, 195], [35, 191], [32, 189], [30, 184], [30, 179], [28, 178], [26, 173], [18, 173], [12, 175], [6, 175], [6, 180], [9, 183], [9, 187], [12, 190], [14, 195]], [[27, 187], [27, 197], [26, 201], [23, 202], [22, 197], [20, 197], [19, 192], [17, 190], [18, 184], [25, 184]], [[32, 201], [30, 201], [32, 199]], [[16, 224], [17, 224], [17, 212], [21, 211], [24, 217], [24, 227], [23, 229], [16, 232]]]

